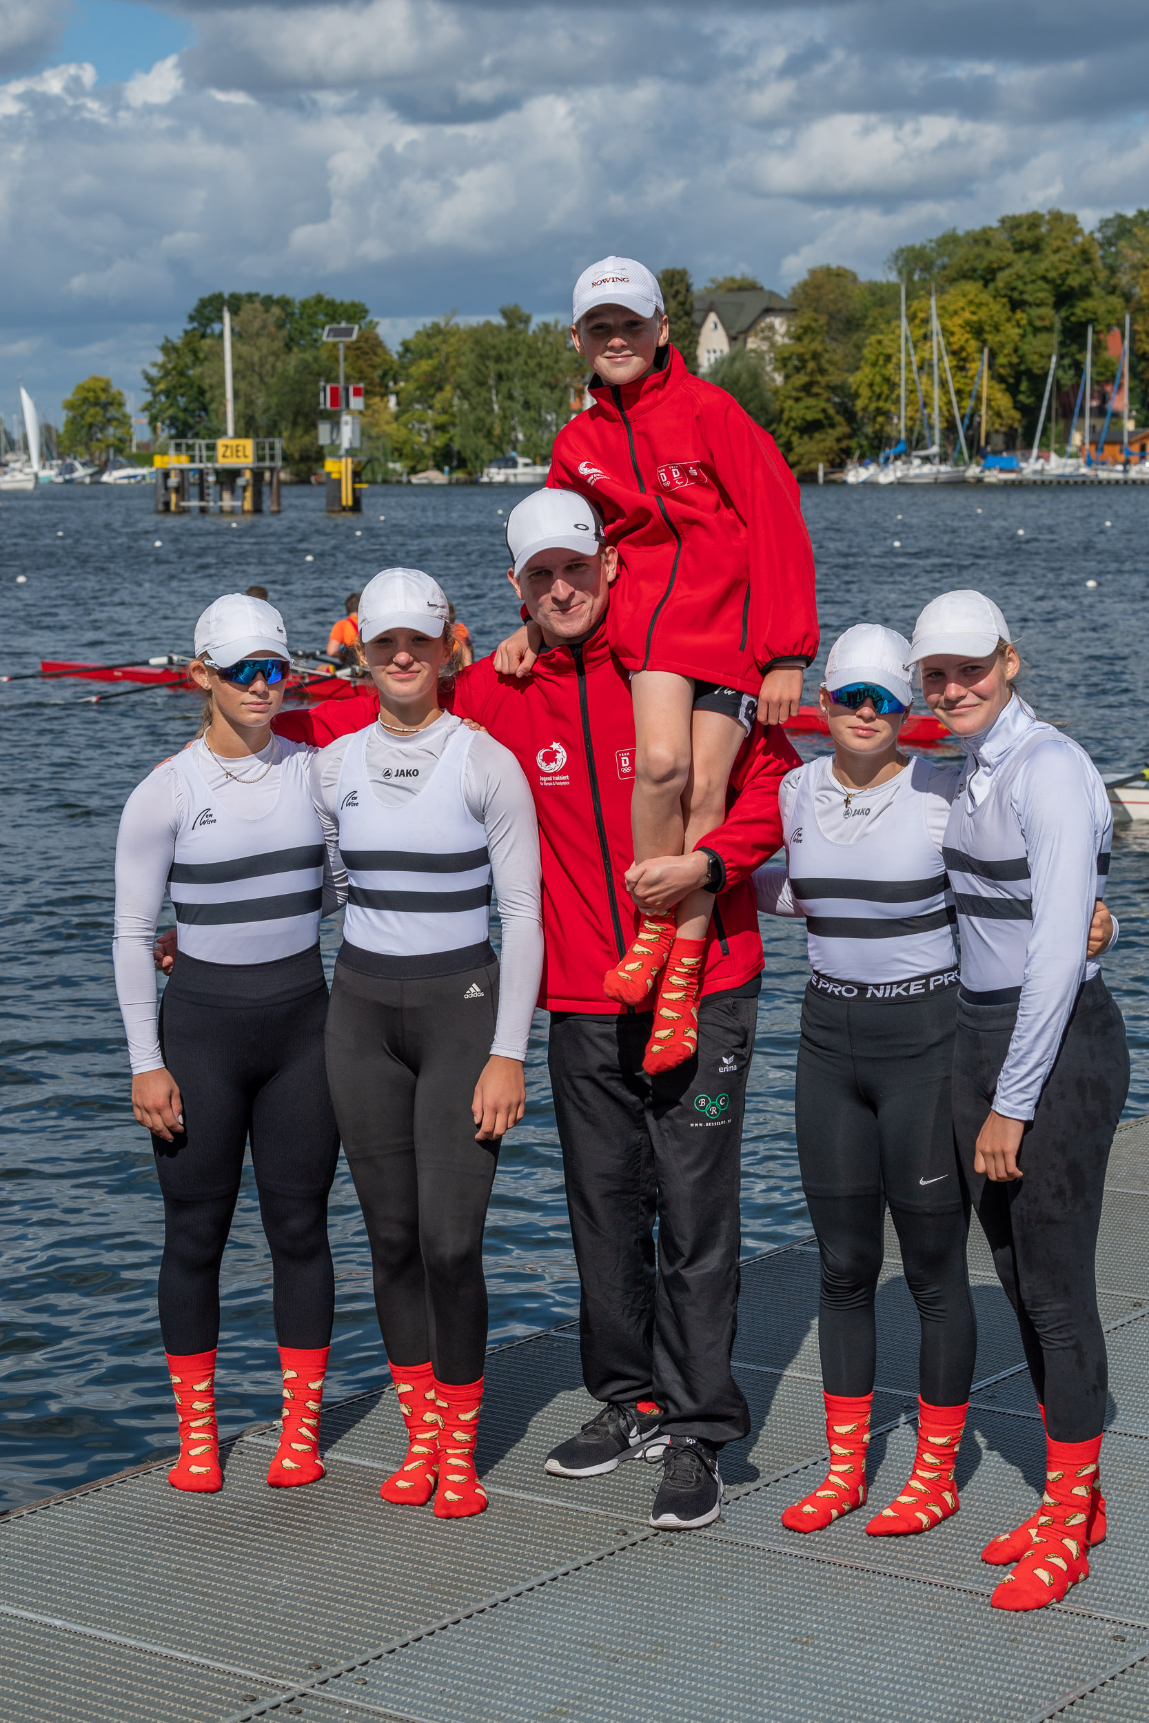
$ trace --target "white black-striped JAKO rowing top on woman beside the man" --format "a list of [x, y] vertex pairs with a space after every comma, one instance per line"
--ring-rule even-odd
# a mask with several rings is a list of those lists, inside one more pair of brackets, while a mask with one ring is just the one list
[[348, 875], [346, 944], [401, 960], [486, 946], [491, 856], [486, 829], [463, 799], [475, 732], [460, 725], [427, 787], [401, 806], [384, 806], [372, 793], [363, 758], [369, 734], [351, 737], [336, 799]]

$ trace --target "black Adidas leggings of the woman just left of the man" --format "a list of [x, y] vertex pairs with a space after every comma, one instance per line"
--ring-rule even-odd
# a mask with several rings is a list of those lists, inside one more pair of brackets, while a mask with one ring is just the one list
[[[345, 948], [346, 951], [346, 948]], [[498, 965], [388, 980], [341, 955], [327, 1075], [363, 1208], [376, 1309], [394, 1365], [475, 1382], [488, 1344], [482, 1227], [498, 1142], [470, 1101], [491, 1053]]]

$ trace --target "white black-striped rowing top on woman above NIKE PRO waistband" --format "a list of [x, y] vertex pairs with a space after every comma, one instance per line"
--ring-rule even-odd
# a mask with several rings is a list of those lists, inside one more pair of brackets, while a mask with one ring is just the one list
[[954, 910], [930, 836], [925, 786], [930, 762], [913, 760], [892, 781], [882, 815], [851, 844], [818, 825], [815, 794], [832, 755], [810, 760], [784, 815], [794, 905], [806, 917], [810, 963], [835, 980], [894, 982], [954, 968]]

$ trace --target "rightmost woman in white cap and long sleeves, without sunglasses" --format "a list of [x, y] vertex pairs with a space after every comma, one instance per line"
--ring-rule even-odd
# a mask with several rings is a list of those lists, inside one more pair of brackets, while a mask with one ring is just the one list
[[1046, 1425], [1037, 1511], [984, 1549], [1016, 1563], [996, 1609], [1044, 1609], [1106, 1535], [1106, 1342], [1094, 1256], [1128, 1091], [1125, 1025], [1090, 939], [1113, 813], [1089, 755], [1013, 689], [1020, 660], [982, 593], [942, 593], [910, 658], [965, 751], [944, 856], [961, 936], [954, 1127]]

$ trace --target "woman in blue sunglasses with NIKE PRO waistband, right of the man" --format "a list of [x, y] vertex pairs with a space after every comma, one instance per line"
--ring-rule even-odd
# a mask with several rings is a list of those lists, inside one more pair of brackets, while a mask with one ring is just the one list
[[951, 1111], [956, 915], [942, 862], [960, 765], [897, 751], [908, 653], [901, 634], [872, 624], [834, 643], [820, 694], [834, 753], [782, 781], [787, 867], [755, 875], [760, 908], [806, 917], [813, 968], [794, 1117], [822, 1254], [830, 1470], [784, 1509], [794, 1532], [822, 1530], [866, 1499], [885, 1206], [922, 1325], [918, 1451], [906, 1487], [866, 1530], [925, 1532], [958, 1511], [977, 1351]]

